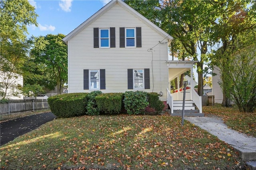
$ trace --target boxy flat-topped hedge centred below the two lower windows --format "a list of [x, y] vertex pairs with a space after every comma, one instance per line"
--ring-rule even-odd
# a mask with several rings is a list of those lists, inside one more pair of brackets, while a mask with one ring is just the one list
[[104, 113], [120, 113], [123, 93], [102, 93], [95, 97], [98, 109]]

